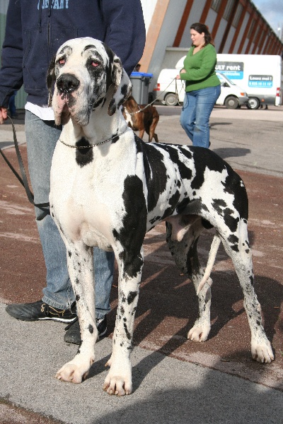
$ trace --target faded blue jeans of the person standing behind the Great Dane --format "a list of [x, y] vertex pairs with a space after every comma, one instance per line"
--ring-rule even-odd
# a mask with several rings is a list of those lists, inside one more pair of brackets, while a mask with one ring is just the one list
[[[25, 135], [28, 148], [28, 170], [33, 187], [35, 204], [49, 201], [50, 168], [55, 145], [62, 128], [54, 121], [42, 121], [35, 114], [25, 111]], [[43, 288], [43, 302], [60, 309], [68, 309], [74, 302], [74, 292], [67, 270], [67, 253], [52, 217], [35, 207], [43, 256], [47, 269]], [[96, 281], [96, 317], [103, 318], [110, 311], [110, 290], [114, 270], [114, 254], [93, 248]]]

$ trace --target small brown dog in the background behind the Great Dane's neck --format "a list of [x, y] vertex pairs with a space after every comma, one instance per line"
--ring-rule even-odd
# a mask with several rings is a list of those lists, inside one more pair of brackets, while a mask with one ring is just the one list
[[127, 124], [134, 131], [139, 131], [139, 138], [142, 139], [144, 131], [149, 134], [149, 143], [154, 139], [158, 143], [155, 134], [156, 125], [159, 121], [159, 114], [154, 106], [138, 105], [132, 95], [123, 104], [123, 115]]

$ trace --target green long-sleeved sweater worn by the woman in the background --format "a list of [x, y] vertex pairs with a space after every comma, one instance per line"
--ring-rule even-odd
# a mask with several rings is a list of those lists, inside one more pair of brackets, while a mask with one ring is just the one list
[[185, 80], [185, 90], [200, 90], [202, 88], [216, 87], [220, 85], [219, 78], [215, 73], [216, 50], [209, 44], [199, 52], [193, 54], [195, 46], [187, 52], [184, 60], [186, 72], [180, 73], [180, 78]]

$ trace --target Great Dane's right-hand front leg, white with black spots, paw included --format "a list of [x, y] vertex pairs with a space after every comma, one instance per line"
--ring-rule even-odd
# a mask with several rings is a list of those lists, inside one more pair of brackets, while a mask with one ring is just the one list
[[137, 258], [132, 257], [132, 263], [129, 264], [132, 269], [129, 271], [123, 261], [120, 261], [119, 256], [117, 263], [119, 267], [119, 300], [112, 341], [112, 355], [106, 364], [110, 365], [110, 371], [105, 378], [103, 390], [108, 394], [124, 396], [132, 393], [130, 353], [132, 352], [134, 315], [139, 299], [139, 284], [143, 266], [142, 252]]

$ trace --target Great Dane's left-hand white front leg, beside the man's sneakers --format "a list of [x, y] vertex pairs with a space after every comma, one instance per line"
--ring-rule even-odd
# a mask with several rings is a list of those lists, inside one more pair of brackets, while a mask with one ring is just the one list
[[78, 242], [67, 245], [67, 261], [81, 328], [81, 344], [76, 356], [56, 374], [64, 382], [81, 383], [93, 364], [98, 336], [94, 295], [93, 248]]

